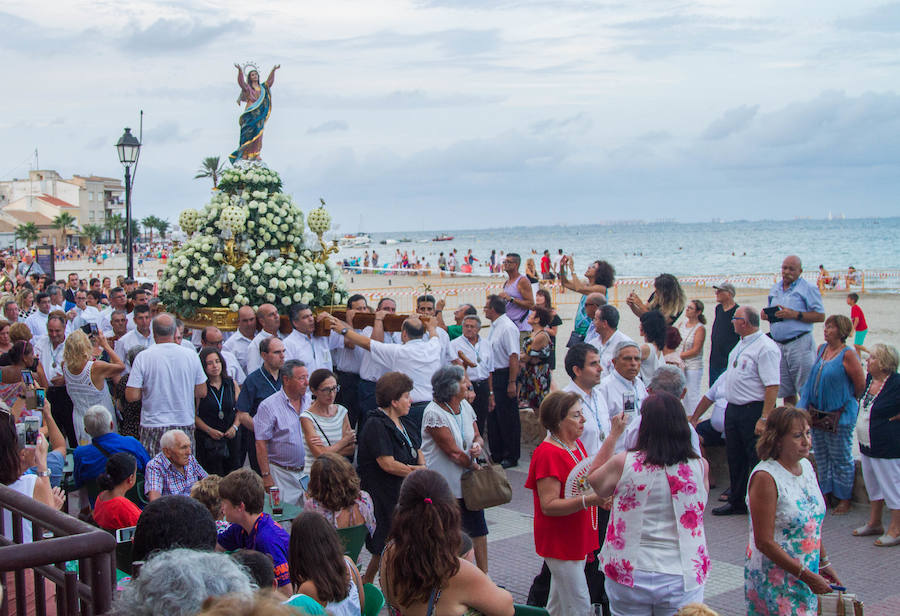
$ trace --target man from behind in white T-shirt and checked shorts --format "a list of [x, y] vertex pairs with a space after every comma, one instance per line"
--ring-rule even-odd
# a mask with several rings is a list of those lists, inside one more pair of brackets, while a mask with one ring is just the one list
[[128, 402], [142, 401], [140, 441], [151, 457], [160, 452], [159, 439], [168, 430], [183, 431], [194, 448], [194, 401], [206, 397], [200, 358], [175, 344], [175, 317], [157, 316], [152, 329], [155, 344], [135, 358], [125, 387]]

